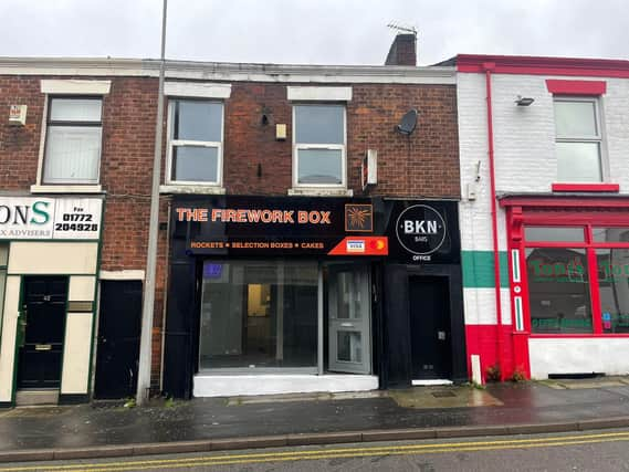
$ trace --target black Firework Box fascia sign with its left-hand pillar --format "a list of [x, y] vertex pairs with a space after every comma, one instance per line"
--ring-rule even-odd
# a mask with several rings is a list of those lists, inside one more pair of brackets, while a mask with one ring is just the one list
[[[369, 240], [382, 234], [381, 209], [381, 200], [365, 198], [175, 197], [170, 209], [165, 394], [178, 398], [190, 398], [192, 394], [199, 349], [199, 260], [208, 256], [381, 260], [379, 254], [386, 253], [386, 247], [375, 249], [371, 244], [386, 239]], [[263, 218], [271, 221], [264, 222]], [[363, 251], [344, 252], [347, 239], [357, 242]], [[331, 254], [335, 248], [343, 250], [340, 258]]]

